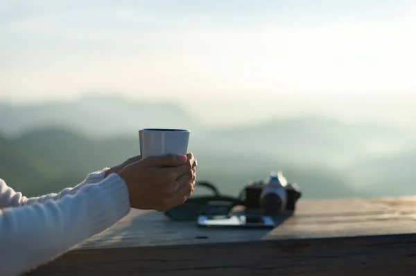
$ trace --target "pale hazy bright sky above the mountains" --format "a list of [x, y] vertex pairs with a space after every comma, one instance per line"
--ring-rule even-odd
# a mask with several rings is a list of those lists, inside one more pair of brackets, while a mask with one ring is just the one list
[[119, 93], [212, 124], [416, 127], [416, 1], [0, 1], [0, 101]]

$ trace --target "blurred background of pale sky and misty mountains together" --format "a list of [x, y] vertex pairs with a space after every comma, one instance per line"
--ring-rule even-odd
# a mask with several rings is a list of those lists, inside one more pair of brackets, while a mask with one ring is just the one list
[[0, 1], [0, 178], [35, 196], [191, 130], [198, 179], [416, 194], [416, 3]]

